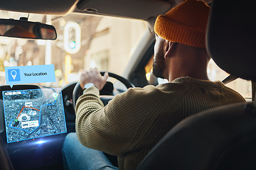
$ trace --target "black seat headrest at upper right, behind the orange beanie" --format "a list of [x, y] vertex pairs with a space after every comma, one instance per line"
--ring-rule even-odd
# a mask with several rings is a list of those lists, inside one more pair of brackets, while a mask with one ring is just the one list
[[256, 1], [213, 0], [206, 47], [225, 72], [256, 81]]

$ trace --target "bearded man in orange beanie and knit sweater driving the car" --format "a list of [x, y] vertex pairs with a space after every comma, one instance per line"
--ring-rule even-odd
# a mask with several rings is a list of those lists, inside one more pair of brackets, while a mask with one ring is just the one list
[[[210, 7], [187, 0], [156, 19], [153, 74], [168, 79], [158, 86], [128, 89], [107, 106], [97, 69], [80, 77], [76, 134], [67, 135], [63, 158], [68, 169], [118, 169], [103, 152], [117, 155], [119, 169], [136, 169], [146, 154], [178, 122], [190, 115], [245, 102], [220, 81], [210, 81], [206, 26]], [[90, 149], [91, 148], [91, 149]]]

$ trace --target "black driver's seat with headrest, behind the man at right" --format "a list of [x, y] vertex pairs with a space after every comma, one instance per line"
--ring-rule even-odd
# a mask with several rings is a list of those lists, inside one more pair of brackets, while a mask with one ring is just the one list
[[[214, 0], [207, 49], [234, 77], [256, 81], [256, 1]], [[252, 100], [255, 84], [252, 83]], [[255, 101], [213, 108], [182, 120], [137, 170], [256, 169]]]

